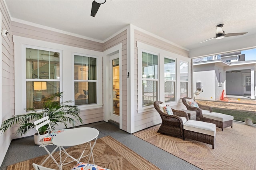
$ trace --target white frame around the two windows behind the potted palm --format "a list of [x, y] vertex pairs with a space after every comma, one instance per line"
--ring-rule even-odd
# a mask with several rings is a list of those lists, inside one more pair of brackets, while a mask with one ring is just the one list
[[[102, 108], [102, 55], [103, 52], [73, 47], [58, 43], [46, 42], [13, 35], [14, 42], [14, 111], [15, 115], [26, 113], [26, 47], [42, 47], [49, 51], [62, 51], [60, 58], [60, 92], [64, 92], [63, 100], [71, 100], [74, 105], [74, 66], [72, 63], [72, 53], [82, 53], [97, 57], [97, 104], [83, 106], [81, 111], [94, 108]], [[61, 57], [61, 55], [60, 55]], [[63, 76], [64, 75], [64, 76]], [[54, 80], [55, 81], [55, 80]], [[99, 99], [99, 101], [98, 101]]]

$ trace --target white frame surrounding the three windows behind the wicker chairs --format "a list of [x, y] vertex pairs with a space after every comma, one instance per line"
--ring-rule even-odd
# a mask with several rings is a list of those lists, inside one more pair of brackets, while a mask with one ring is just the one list
[[188, 57], [184, 57], [182, 55], [166, 51], [164, 49], [148, 45], [146, 43], [137, 42], [137, 48], [138, 48], [138, 113], [144, 113], [146, 111], [152, 111], [154, 110], [154, 106], [146, 106], [142, 107], [142, 52], [152, 53], [154, 55], [158, 54], [158, 101], [164, 101], [164, 67], [161, 67], [161, 65], [164, 64], [164, 58], [170, 58], [174, 59], [176, 62], [176, 83], [175, 83], [175, 89], [176, 89], [176, 95], [175, 95], [175, 101], [166, 102], [170, 106], [177, 105], [180, 103], [180, 61], [188, 63], [188, 95], [190, 94], [190, 62], [191, 59]]

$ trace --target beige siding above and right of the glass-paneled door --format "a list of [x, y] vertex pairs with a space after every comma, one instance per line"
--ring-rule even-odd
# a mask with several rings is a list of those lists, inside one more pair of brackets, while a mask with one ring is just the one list
[[119, 43], [122, 43], [122, 130], [127, 131], [127, 30], [104, 42], [103, 51]]

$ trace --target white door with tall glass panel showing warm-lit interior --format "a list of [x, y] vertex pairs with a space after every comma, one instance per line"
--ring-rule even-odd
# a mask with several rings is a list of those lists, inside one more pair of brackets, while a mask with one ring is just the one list
[[120, 69], [119, 69], [119, 53], [110, 56], [110, 119], [119, 123], [120, 119]]

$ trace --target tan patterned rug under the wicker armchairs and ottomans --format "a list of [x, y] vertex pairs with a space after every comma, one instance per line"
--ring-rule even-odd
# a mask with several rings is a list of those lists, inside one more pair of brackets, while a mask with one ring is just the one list
[[158, 133], [159, 127], [134, 135], [204, 170], [256, 169], [256, 127], [233, 122], [233, 128], [216, 128], [214, 149], [210, 144]]

